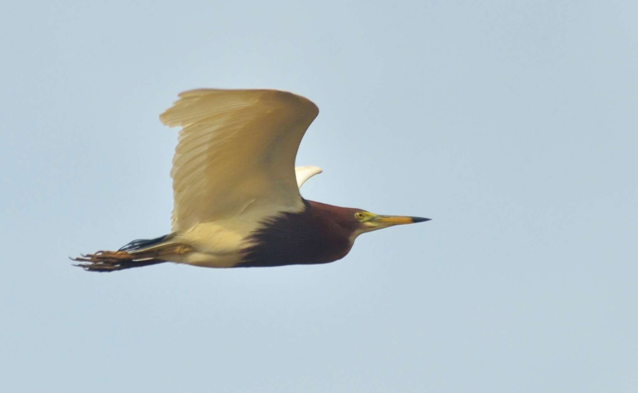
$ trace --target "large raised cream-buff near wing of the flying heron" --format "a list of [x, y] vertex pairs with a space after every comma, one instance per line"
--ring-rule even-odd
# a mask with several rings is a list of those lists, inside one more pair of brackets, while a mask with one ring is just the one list
[[311, 101], [283, 91], [179, 94], [159, 116], [182, 127], [171, 170], [173, 231], [233, 218], [248, 207], [302, 210], [295, 156], [318, 113]]

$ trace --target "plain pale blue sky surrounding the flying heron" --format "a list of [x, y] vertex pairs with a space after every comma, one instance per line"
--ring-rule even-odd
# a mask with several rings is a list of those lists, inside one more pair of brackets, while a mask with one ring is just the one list
[[[635, 392], [635, 1], [3, 5], [6, 392]], [[327, 265], [93, 274], [170, 231], [197, 87], [320, 114], [302, 195], [432, 218]]]

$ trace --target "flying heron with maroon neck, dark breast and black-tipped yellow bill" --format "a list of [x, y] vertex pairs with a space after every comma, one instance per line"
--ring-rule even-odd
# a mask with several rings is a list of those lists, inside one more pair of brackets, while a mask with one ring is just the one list
[[199, 267], [272, 267], [334, 262], [360, 234], [428, 218], [386, 216], [304, 199], [319, 167], [297, 167], [316, 105], [278, 90], [196, 89], [159, 119], [179, 126], [170, 172], [170, 234], [117, 251], [71, 258], [91, 272], [163, 262]]

